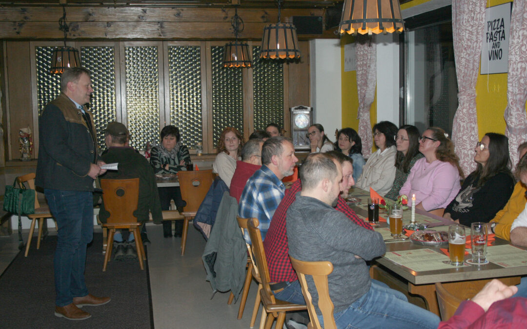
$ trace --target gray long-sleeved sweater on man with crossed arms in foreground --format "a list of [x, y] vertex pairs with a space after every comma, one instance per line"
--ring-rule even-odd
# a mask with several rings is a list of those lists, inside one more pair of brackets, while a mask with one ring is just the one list
[[[366, 261], [386, 252], [380, 233], [356, 225], [333, 207], [316, 198], [300, 196], [300, 192], [286, 218], [289, 255], [300, 261], [333, 263], [328, 286], [335, 313], [344, 311], [368, 292], [371, 281]], [[306, 280], [315, 310], [321, 315], [315, 283], [310, 276]]]

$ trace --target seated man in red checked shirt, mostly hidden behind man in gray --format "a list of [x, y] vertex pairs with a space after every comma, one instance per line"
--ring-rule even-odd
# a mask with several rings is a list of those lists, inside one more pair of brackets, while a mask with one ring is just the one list
[[[338, 197], [337, 206], [335, 207], [341, 213], [344, 213], [355, 224], [373, 230], [367, 222], [361, 220], [353, 210], [351, 210], [344, 198], [348, 197], [349, 188], [355, 185], [353, 180], [353, 160], [341, 152], [330, 151], [326, 153], [335, 159], [342, 166], [342, 186], [344, 190]], [[286, 196], [275, 211], [272, 217], [269, 231], [267, 231], [264, 249], [267, 257], [267, 266], [269, 267], [269, 276], [271, 282], [276, 282], [271, 288], [276, 288], [273, 293], [279, 300], [295, 304], [305, 304], [302, 289], [298, 282], [298, 277], [289, 261], [289, 248], [287, 246], [286, 236], [286, 213], [289, 206], [295, 202], [296, 194], [302, 188], [300, 180], [296, 181], [286, 192]]]

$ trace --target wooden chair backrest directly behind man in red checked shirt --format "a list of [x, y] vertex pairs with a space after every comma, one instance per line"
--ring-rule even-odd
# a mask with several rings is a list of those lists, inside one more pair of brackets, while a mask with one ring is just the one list
[[262, 235], [260, 229], [258, 228], [260, 222], [258, 218], [248, 218], [247, 230], [249, 231], [249, 236], [251, 238], [251, 252], [252, 257], [256, 262], [256, 267], [258, 268], [258, 274], [260, 275], [260, 280], [262, 284], [262, 300], [267, 304], [275, 304], [275, 295], [272, 294], [269, 278], [269, 268], [267, 267], [267, 258], [264, 251], [264, 242], [262, 242]]

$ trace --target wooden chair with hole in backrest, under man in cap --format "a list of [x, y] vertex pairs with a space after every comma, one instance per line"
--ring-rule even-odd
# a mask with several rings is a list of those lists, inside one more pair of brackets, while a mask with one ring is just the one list
[[139, 266], [141, 270], [144, 270], [143, 260], [145, 259], [145, 254], [141, 233], [139, 232], [139, 227], [142, 223], [138, 222], [137, 217], [133, 214], [137, 210], [139, 200], [139, 178], [101, 180], [101, 188], [104, 208], [110, 213], [106, 223], [102, 223], [103, 227], [108, 228], [106, 255], [104, 256], [102, 270], [106, 271], [106, 265], [108, 265], [112, 255], [115, 230], [121, 228], [128, 228], [130, 232], [133, 232]]

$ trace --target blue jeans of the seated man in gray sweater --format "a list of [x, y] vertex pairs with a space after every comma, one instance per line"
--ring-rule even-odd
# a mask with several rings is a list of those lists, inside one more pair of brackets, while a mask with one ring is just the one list
[[[408, 303], [406, 296], [372, 282], [369, 291], [346, 310], [334, 313], [337, 328], [437, 328], [440, 318]], [[318, 316], [320, 324], [324, 320]]]

